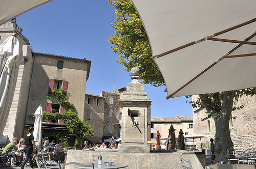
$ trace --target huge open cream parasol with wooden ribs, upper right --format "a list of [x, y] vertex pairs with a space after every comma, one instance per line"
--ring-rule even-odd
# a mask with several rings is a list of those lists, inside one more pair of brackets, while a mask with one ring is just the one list
[[132, 0], [167, 98], [256, 87], [255, 0]]

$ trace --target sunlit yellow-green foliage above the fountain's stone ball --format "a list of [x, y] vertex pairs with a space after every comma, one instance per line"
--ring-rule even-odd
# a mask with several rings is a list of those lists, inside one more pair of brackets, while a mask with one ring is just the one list
[[156, 63], [153, 61], [150, 42], [142, 21], [130, 0], [109, 0], [115, 8], [116, 19], [111, 23], [116, 31], [109, 41], [113, 52], [119, 54], [123, 70], [140, 69], [140, 79], [144, 84], [155, 87], [164, 86], [164, 80]]

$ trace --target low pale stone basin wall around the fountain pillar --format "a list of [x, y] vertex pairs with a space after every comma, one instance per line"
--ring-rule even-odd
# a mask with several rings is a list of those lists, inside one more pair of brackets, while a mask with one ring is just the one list
[[[111, 150], [111, 149], [109, 149]], [[162, 153], [160, 153], [162, 152]], [[116, 155], [118, 163], [128, 164], [127, 169], [147, 169], [147, 168], [182, 168], [179, 157], [190, 159], [193, 168], [204, 168], [204, 153], [179, 151], [159, 153], [119, 153], [117, 151], [108, 151], [108, 149], [96, 149], [96, 151], [87, 150], [69, 150], [67, 156], [68, 162], [87, 163], [93, 161], [93, 155], [110, 154]], [[103, 157], [104, 160], [104, 157]], [[67, 165], [66, 169], [74, 168], [73, 165]]]

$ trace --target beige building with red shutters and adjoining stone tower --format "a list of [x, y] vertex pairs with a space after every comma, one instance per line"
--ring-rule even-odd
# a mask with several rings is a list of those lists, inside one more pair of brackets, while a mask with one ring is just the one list
[[[78, 116], [83, 119], [84, 93], [91, 61], [33, 52], [28, 46], [29, 41], [21, 34], [22, 29], [15, 22], [8, 22], [0, 26], [0, 42], [14, 32], [17, 34], [20, 44], [23, 45], [25, 62], [20, 65], [18, 70], [14, 98], [3, 134], [8, 135], [9, 141], [13, 136], [18, 139], [23, 137], [27, 133], [25, 127], [28, 128], [34, 124], [34, 119], [29, 119], [27, 116], [34, 113], [39, 105], [43, 110], [49, 112], [65, 112], [57, 100], [46, 97], [53, 88], [62, 87], [68, 91], [69, 101], [74, 103]], [[60, 121], [43, 123], [43, 136], [49, 128], [66, 127]]]

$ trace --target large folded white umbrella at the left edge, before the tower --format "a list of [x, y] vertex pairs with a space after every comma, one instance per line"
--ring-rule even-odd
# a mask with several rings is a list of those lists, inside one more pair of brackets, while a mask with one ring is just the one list
[[0, 45], [0, 135], [3, 134], [9, 115], [18, 68], [24, 61], [22, 46], [14, 36], [8, 37]]

